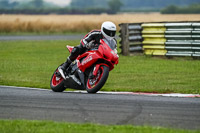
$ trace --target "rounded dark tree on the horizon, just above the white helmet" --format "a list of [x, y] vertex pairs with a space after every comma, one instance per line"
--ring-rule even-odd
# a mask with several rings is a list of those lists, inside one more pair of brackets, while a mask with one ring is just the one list
[[117, 13], [123, 6], [123, 3], [120, 0], [109, 0], [108, 6], [113, 13]]

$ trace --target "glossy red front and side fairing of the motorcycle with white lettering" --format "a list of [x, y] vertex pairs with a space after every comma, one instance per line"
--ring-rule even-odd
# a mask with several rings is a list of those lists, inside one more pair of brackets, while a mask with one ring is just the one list
[[[87, 51], [77, 57], [77, 66], [82, 72], [97, 61], [100, 61], [98, 64], [108, 66], [110, 71], [114, 68], [115, 64], [118, 64], [119, 57], [114, 50], [112, 50], [103, 40], [101, 40], [100, 43], [101, 45], [99, 45], [97, 50]], [[99, 66], [97, 65], [96, 68], [98, 69]]]

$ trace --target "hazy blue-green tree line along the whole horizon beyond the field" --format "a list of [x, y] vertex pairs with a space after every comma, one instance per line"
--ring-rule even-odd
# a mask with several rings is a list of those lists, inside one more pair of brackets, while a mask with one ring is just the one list
[[[115, 14], [151, 12], [163, 14], [200, 13], [199, 0], [72, 0], [70, 6], [58, 7], [43, 0], [11, 2], [0, 0], [0, 14]], [[194, 4], [196, 3], [196, 4]]]

